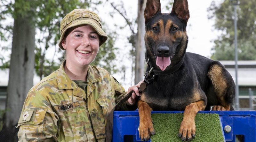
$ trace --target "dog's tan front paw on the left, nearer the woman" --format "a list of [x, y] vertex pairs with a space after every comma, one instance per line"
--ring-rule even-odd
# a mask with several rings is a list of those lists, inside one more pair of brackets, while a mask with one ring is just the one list
[[138, 131], [139, 131], [139, 137], [140, 137], [141, 141], [147, 141], [150, 139], [150, 137], [152, 135], [155, 134], [155, 130], [154, 130], [152, 122], [141, 123], [138, 128]]

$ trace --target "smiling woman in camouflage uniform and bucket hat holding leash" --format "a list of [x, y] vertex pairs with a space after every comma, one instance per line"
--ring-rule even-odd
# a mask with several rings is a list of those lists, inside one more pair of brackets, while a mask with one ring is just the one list
[[[29, 91], [18, 126], [19, 141], [105, 141], [108, 113], [126, 93], [106, 70], [90, 66], [107, 40], [97, 14], [68, 13], [60, 24], [59, 47], [66, 50], [60, 69]], [[136, 109], [137, 86], [123, 110]]]

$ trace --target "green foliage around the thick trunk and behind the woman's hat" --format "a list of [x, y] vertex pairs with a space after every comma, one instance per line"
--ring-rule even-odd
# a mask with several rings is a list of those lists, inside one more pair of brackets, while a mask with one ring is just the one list
[[[36, 26], [36, 49], [35, 49], [35, 69], [36, 74], [41, 78], [49, 75], [52, 71], [58, 69], [60, 62], [53, 59], [45, 58], [46, 53], [49, 49], [55, 48], [55, 54], [60, 53], [58, 47], [55, 45], [59, 42], [60, 39], [60, 21], [66, 14], [68, 14], [73, 9], [77, 8], [89, 8], [91, 5], [102, 4], [101, 0], [3, 0], [0, 2], [0, 22], [5, 20], [6, 17], [15, 18], [17, 16], [27, 16], [26, 13], [33, 13]], [[14, 12], [14, 9], [16, 12]], [[7, 41], [11, 37], [6, 36], [6, 32], [9, 32], [12, 35], [12, 26], [7, 25], [2, 26], [0, 24], [0, 41]], [[107, 43], [105, 43], [97, 59], [93, 65], [98, 65], [106, 68], [109, 72], [116, 72], [115, 66], [113, 65], [113, 60], [116, 58], [113, 53], [116, 48], [114, 48], [116, 33], [111, 33]], [[3, 50], [8, 49], [6, 47], [1, 47]], [[9, 48], [10, 49], [10, 48]], [[103, 50], [104, 49], [104, 50]], [[6, 56], [6, 55], [5, 55]], [[102, 59], [101, 59], [102, 58]], [[6, 58], [0, 55], [0, 61], [2, 61], [2, 68], [9, 66], [9, 61], [5, 61]], [[106, 63], [110, 63], [107, 65]]]

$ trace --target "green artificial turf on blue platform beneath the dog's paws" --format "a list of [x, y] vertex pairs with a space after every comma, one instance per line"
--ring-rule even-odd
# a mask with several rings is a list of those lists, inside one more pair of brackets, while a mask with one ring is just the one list
[[[178, 137], [182, 113], [152, 114], [156, 134], [151, 142], [182, 142]], [[191, 142], [223, 142], [218, 114], [196, 114], [196, 137]]]

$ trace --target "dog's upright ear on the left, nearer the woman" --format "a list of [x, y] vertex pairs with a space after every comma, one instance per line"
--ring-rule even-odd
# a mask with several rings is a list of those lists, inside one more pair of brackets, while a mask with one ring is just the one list
[[147, 0], [146, 8], [144, 11], [145, 23], [154, 17], [157, 12], [161, 12], [160, 0]]

